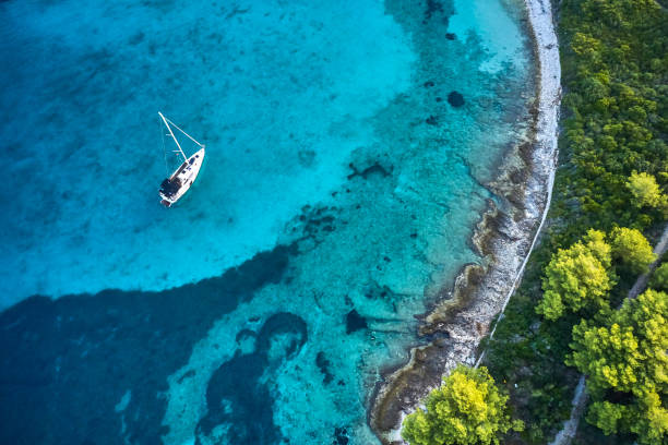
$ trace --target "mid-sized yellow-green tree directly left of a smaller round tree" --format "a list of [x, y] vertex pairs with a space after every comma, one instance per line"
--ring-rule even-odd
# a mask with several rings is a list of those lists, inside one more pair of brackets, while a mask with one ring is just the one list
[[582, 241], [559, 249], [545, 269], [542, 300], [536, 311], [557, 320], [568, 310], [607, 306], [608, 291], [615, 285], [611, 250], [605, 234], [589, 230]]

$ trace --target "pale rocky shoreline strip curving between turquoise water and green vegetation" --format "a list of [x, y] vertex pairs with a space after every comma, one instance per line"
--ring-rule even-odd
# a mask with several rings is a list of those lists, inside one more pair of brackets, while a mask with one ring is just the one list
[[534, 131], [530, 141], [517, 144], [489, 184], [500, 204], [489, 202], [472, 240], [485, 264], [465, 266], [453, 289], [441, 292], [440, 303], [419, 328], [429, 344], [413, 348], [404, 366], [383, 373], [383, 382], [371, 395], [368, 422], [383, 444], [403, 443], [403, 418], [440, 384], [444, 373], [457, 363], [479, 363], [477, 346], [485, 336], [493, 336], [492, 322], [520, 282], [547, 216], [558, 155], [559, 45], [550, 0], [524, 3], [538, 64]]

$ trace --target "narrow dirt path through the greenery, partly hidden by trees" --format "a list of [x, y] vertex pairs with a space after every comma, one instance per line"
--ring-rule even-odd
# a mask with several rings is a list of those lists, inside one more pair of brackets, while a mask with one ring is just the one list
[[[635, 298], [641, 294], [647, 288], [647, 280], [649, 276], [654, 272], [654, 269], [658, 266], [661, 255], [666, 253], [668, 249], [668, 225], [664, 228], [664, 233], [661, 233], [661, 238], [656, 243], [654, 248], [654, 253], [657, 256], [657, 260], [649, 265], [649, 272], [641, 275], [635, 280], [635, 284], [629, 291], [627, 298]], [[571, 404], [573, 405], [573, 409], [571, 410], [571, 418], [563, 422], [563, 428], [550, 445], [569, 445], [573, 437], [575, 437], [575, 433], [577, 432], [577, 424], [580, 423], [580, 419], [582, 418], [582, 413], [584, 411], [585, 406], [587, 405], [587, 392], [585, 389], [585, 377], [582, 375], [580, 381], [577, 382], [577, 387], [575, 388], [575, 395], [573, 396], [573, 400]]]

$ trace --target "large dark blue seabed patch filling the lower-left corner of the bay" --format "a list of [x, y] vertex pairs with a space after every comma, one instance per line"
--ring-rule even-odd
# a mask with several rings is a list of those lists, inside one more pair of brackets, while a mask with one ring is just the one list
[[[115, 407], [131, 390], [124, 438], [162, 444], [166, 400], [158, 394], [167, 377], [216, 318], [278, 282], [295, 252], [281, 245], [220, 277], [163, 292], [33, 297], [8, 309], [0, 314], [0, 443], [123, 443]], [[270, 321], [258, 350], [284, 328]]]

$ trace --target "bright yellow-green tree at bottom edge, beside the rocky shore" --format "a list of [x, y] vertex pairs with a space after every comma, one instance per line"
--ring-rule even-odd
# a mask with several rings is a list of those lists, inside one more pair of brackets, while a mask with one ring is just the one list
[[524, 428], [511, 420], [506, 400], [486, 368], [458, 365], [427, 396], [427, 410], [404, 420], [402, 436], [410, 445], [498, 445], [503, 434]]

